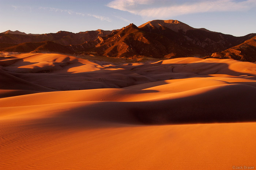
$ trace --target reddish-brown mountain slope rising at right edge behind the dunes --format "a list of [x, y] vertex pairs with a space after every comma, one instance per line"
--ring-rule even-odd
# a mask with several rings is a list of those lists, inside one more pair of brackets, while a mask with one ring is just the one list
[[213, 53], [205, 58], [236, 59], [240, 61], [256, 62], [256, 36], [240, 45], [231, 47], [219, 53]]

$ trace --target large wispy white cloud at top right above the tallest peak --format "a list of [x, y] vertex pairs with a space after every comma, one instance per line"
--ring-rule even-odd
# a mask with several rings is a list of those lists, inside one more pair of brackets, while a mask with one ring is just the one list
[[[165, 4], [164, 4], [165, 3]], [[162, 6], [159, 6], [162, 5]], [[164, 5], [163, 5], [164, 4]], [[121, 11], [128, 11], [143, 18], [172, 18], [178, 15], [203, 12], [246, 11], [256, 6], [255, 0], [201, 0], [173, 4], [171, 1], [153, 0], [113, 0], [106, 6]], [[157, 6], [157, 7], [154, 7]]]

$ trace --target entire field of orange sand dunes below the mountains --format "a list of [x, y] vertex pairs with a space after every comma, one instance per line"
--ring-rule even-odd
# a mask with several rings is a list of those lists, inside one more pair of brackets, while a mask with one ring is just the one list
[[20, 54], [0, 82], [2, 169], [256, 166], [255, 63]]

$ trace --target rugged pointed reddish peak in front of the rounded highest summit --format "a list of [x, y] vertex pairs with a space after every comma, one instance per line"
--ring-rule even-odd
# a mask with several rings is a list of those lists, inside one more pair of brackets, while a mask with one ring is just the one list
[[102, 41], [95, 46], [94, 50], [99, 55], [111, 57], [146, 56], [154, 58], [168, 57], [168, 55], [182, 57], [190, 52], [189, 49], [185, 49], [167, 37], [145, 32], [134, 24], [102, 37]]

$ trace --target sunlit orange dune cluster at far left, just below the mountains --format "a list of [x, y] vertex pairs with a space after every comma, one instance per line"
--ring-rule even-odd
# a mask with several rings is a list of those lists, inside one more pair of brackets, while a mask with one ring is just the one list
[[60, 54], [20, 54], [1, 60], [5, 70], [15, 73], [88, 72], [103, 68], [85, 59]]

